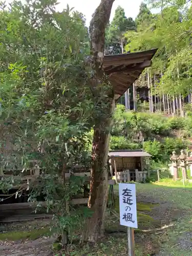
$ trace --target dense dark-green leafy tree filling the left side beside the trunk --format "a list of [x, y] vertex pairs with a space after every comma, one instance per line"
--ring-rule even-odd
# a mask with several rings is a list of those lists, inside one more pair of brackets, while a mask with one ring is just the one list
[[[28, 0], [13, 2], [8, 11], [1, 3], [1, 168], [25, 173], [30, 161], [38, 162], [40, 186], [30, 183], [29, 201], [45, 195], [62, 233], [90, 215], [69, 205], [84, 180], [72, 177], [68, 185], [65, 173], [76, 163], [89, 167], [88, 133], [99, 111], [94, 112], [88, 84], [91, 70], [84, 67], [85, 20], [69, 6], [57, 12], [55, 5], [55, 0]], [[13, 178], [0, 184], [4, 190], [15, 185]], [[22, 186], [16, 196], [20, 191]]]

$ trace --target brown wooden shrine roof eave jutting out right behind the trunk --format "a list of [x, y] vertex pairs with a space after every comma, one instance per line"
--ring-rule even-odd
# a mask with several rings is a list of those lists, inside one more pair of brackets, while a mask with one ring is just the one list
[[115, 98], [118, 99], [137, 80], [143, 70], [151, 67], [157, 49], [143, 52], [105, 55], [103, 69], [109, 75]]

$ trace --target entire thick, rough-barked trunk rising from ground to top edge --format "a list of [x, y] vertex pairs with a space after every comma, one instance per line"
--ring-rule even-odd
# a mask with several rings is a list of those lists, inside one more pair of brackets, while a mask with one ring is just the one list
[[[92, 164], [90, 197], [88, 206], [93, 215], [86, 223], [83, 240], [97, 242], [103, 235], [104, 217], [108, 192], [108, 150], [112, 129], [112, 115], [115, 108], [114, 93], [108, 78], [102, 70], [104, 54], [104, 32], [109, 22], [115, 0], [101, 0], [90, 23], [91, 66], [94, 75], [91, 81], [92, 92], [100, 115], [95, 120], [92, 144]], [[103, 95], [105, 95], [103, 97]]]

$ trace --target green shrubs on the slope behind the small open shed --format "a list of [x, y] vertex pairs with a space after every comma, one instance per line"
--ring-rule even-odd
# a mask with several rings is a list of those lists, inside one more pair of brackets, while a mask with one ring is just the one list
[[[123, 110], [124, 108], [118, 105], [114, 114], [113, 136], [110, 143], [112, 150], [143, 148], [152, 155], [157, 167], [159, 161], [160, 163], [169, 161], [173, 151], [180, 153], [181, 149], [189, 146], [187, 138], [192, 131], [190, 117], [167, 118], [160, 114], [133, 113]], [[177, 138], [177, 134], [181, 138]], [[156, 167], [153, 166], [153, 168]]]

